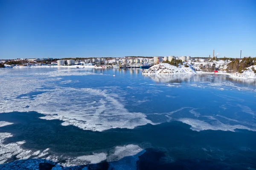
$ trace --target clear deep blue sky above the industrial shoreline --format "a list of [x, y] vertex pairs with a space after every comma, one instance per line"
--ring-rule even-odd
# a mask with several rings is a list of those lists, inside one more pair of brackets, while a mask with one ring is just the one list
[[0, 0], [0, 59], [256, 56], [256, 0]]

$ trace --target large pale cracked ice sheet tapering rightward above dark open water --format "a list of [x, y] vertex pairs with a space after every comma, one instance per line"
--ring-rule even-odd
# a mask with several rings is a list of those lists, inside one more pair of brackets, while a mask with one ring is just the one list
[[64, 121], [62, 125], [74, 125], [84, 130], [133, 129], [153, 124], [143, 113], [130, 113], [120, 100], [119, 96], [106, 90], [56, 88], [33, 99], [10, 99], [0, 107], [2, 112], [37, 111], [47, 115], [42, 119], [60, 119]]

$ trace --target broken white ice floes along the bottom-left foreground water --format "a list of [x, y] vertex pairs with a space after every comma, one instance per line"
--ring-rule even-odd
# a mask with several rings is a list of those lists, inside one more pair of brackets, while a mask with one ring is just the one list
[[[128, 144], [126, 146], [116, 146], [114, 149], [115, 152], [112, 153], [111, 151], [111, 154], [109, 155], [103, 152], [103, 153], [93, 153], [92, 155], [86, 155], [86, 156], [70, 157], [70, 156], [64, 156], [64, 155], [55, 155], [54, 153], [51, 152], [49, 148], [45, 150], [37, 150], [37, 151], [23, 149], [21, 145], [24, 144], [25, 141], [3, 144], [4, 140], [9, 137], [12, 137], [11, 133], [0, 133], [0, 148], [1, 148], [0, 164], [7, 163], [8, 159], [16, 155], [17, 160], [45, 159], [53, 162], [60, 161], [61, 166], [69, 167], [69, 166], [79, 166], [79, 165], [85, 165], [85, 164], [97, 164], [106, 159], [108, 161], [111, 161], [113, 160], [113, 158], [115, 158], [115, 160], [118, 161], [126, 156], [134, 156], [134, 160], [137, 160], [139, 156], [137, 154], [140, 152], [141, 154], [145, 152], [145, 150], [143, 150], [137, 145]], [[61, 161], [61, 160], [65, 160], [65, 161]], [[38, 164], [40, 162], [41, 160], [38, 160]], [[31, 170], [32, 169], [34, 170], [35, 169], [34, 167], [38, 167], [38, 166], [32, 166]]]

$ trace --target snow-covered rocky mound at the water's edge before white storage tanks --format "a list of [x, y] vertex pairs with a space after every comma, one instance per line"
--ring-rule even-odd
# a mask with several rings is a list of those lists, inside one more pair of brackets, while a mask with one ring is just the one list
[[168, 63], [160, 63], [157, 65], [153, 65], [148, 70], [144, 70], [143, 74], [195, 74], [193, 68], [185, 67], [184, 65], [180, 65], [176, 67], [174, 65], [170, 65]]

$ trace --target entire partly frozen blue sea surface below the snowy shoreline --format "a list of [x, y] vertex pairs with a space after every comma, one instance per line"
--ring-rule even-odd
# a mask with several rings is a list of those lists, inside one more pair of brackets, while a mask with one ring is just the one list
[[1, 170], [256, 170], [256, 80], [0, 69]]

